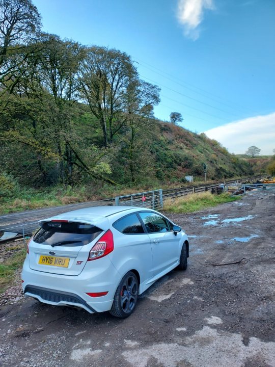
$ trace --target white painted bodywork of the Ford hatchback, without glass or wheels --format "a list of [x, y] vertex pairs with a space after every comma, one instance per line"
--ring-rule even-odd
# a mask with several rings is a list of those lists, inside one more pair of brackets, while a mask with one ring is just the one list
[[[52, 305], [82, 307], [91, 313], [107, 311], [112, 307], [121, 279], [129, 271], [139, 275], [139, 294], [143, 293], [157, 279], [179, 265], [181, 248], [185, 241], [188, 244], [188, 238], [183, 230], [176, 235], [172, 230], [124, 234], [113, 227], [118, 219], [142, 211], [159, 214], [139, 207], [100, 206], [40, 221], [40, 225], [58, 219], [88, 223], [102, 229], [102, 232], [91, 243], [75, 247], [51, 247], [32, 240], [22, 270], [25, 297], [34, 297]], [[113, 233], [114, 250], [104, 257], [87, 261], [90, 250], [108, 229]], [[69, 257], [68, 268], [38, 264], [40, 255], [48, 255], [49, 251], [53, 251], [54, 256]], [[87, 295], [99, 292], [108, 293], [102, 297]], [[79, 303], [71, 295], [83, 302]]]

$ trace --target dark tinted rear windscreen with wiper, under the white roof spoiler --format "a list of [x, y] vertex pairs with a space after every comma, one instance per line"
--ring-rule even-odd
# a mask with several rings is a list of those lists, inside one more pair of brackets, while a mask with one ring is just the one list
[[43, 245], [83, 246], [92, 242], [102, 229], [87, 223], [46, 222], [34, 236]]

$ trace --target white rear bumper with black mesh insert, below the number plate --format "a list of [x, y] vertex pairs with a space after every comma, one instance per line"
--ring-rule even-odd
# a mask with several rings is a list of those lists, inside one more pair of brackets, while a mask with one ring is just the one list
[[[92, 262], [92, 261], [91, 261]], [[90, 313], [111, 309], [120, 275], [109, 261], [98, 271], [84, 269], [77, 276], [44, 273], [30, 268], [25, 260], [22, 270], [22, 288], [25, 298], [33, 297], [54, 306], [76, 306]], [[87, 293], [108, 292], [102, 297], [90, 297]]]

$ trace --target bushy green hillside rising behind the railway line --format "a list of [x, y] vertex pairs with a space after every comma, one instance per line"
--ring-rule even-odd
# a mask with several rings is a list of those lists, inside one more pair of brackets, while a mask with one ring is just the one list
[[[24, 131], [28, 139], [28, 130]], [[81, 169], [79, 162], [99, 177], [103, 172], [120, 185], [143, 188], [184, 182], [185, 175], [204, 180], [204, 163], [208, 180], [253, 173], [249, 162], [230, 154], [205, 134], [155, 119], [142, 121], [142, 125], [125, 125], [105, 148], [97, 119], [84, 111], [72, 121], [70, 139], [78, 156], [71, 156], [70, 180], [65, 182], [69, 185], [100, 185], [100, 178], [87, 174], [88, 169]], [[20, 161], [14, 155], [19, 150]], [[60, 164], [57, 155], [42, 156], [28, 144], [13, 141], [5, 142], [0, 157], [2, 172], [11, 174], [21, 186], [31, 188], [62, 183], [58, 178]], [[63, 164], [66, 170], [66, 162]]]

